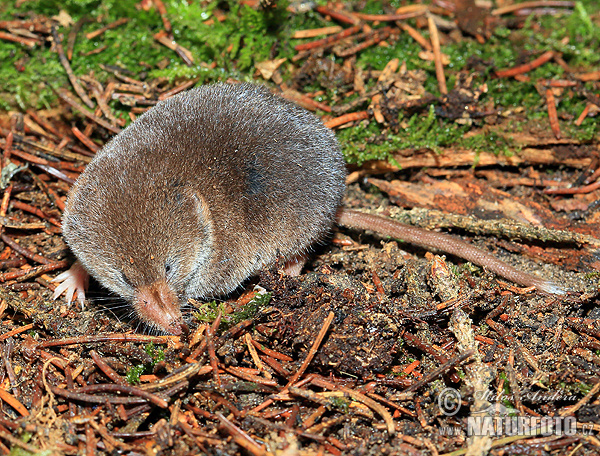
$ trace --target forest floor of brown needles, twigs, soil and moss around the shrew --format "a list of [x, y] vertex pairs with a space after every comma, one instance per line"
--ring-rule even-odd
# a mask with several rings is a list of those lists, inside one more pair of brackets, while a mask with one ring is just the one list
[[[0, 6], [0, 453], [599, 454], [595, 2]], [[346, 207], [450, 232], [558, 284], [337, 229], [148, 334], [72, 256], [70, 186], [195, 85], [254, 81], [319, 115]], [[128, 313], [125, 311], [125, 314]]]

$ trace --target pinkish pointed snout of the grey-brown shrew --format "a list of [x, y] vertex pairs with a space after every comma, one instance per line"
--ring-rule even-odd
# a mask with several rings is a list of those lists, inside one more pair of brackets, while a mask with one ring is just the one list
[[149, 326], [176, 336], [182, 333], [179, 300], [165, 280], [140, 287], [133, 305], [139, 318]]

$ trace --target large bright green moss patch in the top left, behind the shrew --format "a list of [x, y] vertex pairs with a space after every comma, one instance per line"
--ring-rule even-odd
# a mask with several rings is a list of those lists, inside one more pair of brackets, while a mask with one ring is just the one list
[[[176, 1], [166, 5], [175, 40], [194, 56], [195, 65], [191, 68], [185, 66], [173, 51], [154, 39], [154, 34], [163, 28], [156, 9], [138, 10], [135, 2], [38, 0], [27, 2], [20, 9], [4, 5], [0, 7], [0, 12], [7, 19], [19, 12], [31, 11], [54, 16], [61, 10], [71, 15], [73, 21], [83, 15], [102, 17], [101, 24], [85, 24], [75, 42], [71, 67], [76, 76], [93, 71], [104, 82], [109, 74], [100, 70], [102, 64], [122, 67], [133, 72], [134, 77], [141, 77], [142, 73], [151, 68], [151, 78], [167, 77], [174, 80], [199, 77], [199, 82], [203, 83], [235, 74], [238, 79], [250, 79], [254, 63], [268, 59], [271, 49], [281, 40], [281, 24], [285, 24], [285, 17], [288, 15], [285, 5], [278, 5], [274, 11], [262, 12], [230, 1], [231, 10], [225, 21], [215, 21], [213, 25], [204, 24], [217, 5], [217, 2], [211, 2], [202, 8], [197, 4], [188, 5], [187, 2]], [[123, 17], [129, 19], [125, 25], [107, 30], [93, 40], [83, 37], [84, 33]], [[64, 35], [69, 30], [70, 28], [58, 28], [58, 32]], [[233, 47], [229, 49], [232, 44]], [[104, 46], [106, 49], [98, 54], [85, 55]], [[278, 50], [280, 56], [292, 55], [289, 45], [280, 45]], [[51, 52], [49, 46], [28, 49], [17, 43], [0, 40], [0, 61], [3, 62], [0, 66], [1, 109], [25, 110], [32, 106], [48, 108], [56, 102], [56, 96], [43, 83], [51, 81], [55, 86], [69, 86], [58, 55]], [[217, 63], [217, 69], [214, 70], [206, 65], [213, 61]], [[159, 62], [168, 62], [168, 65], [159, 70]], [[116, 101], [112, 102], [112, 106], [117, 110], [122, 109]]]

